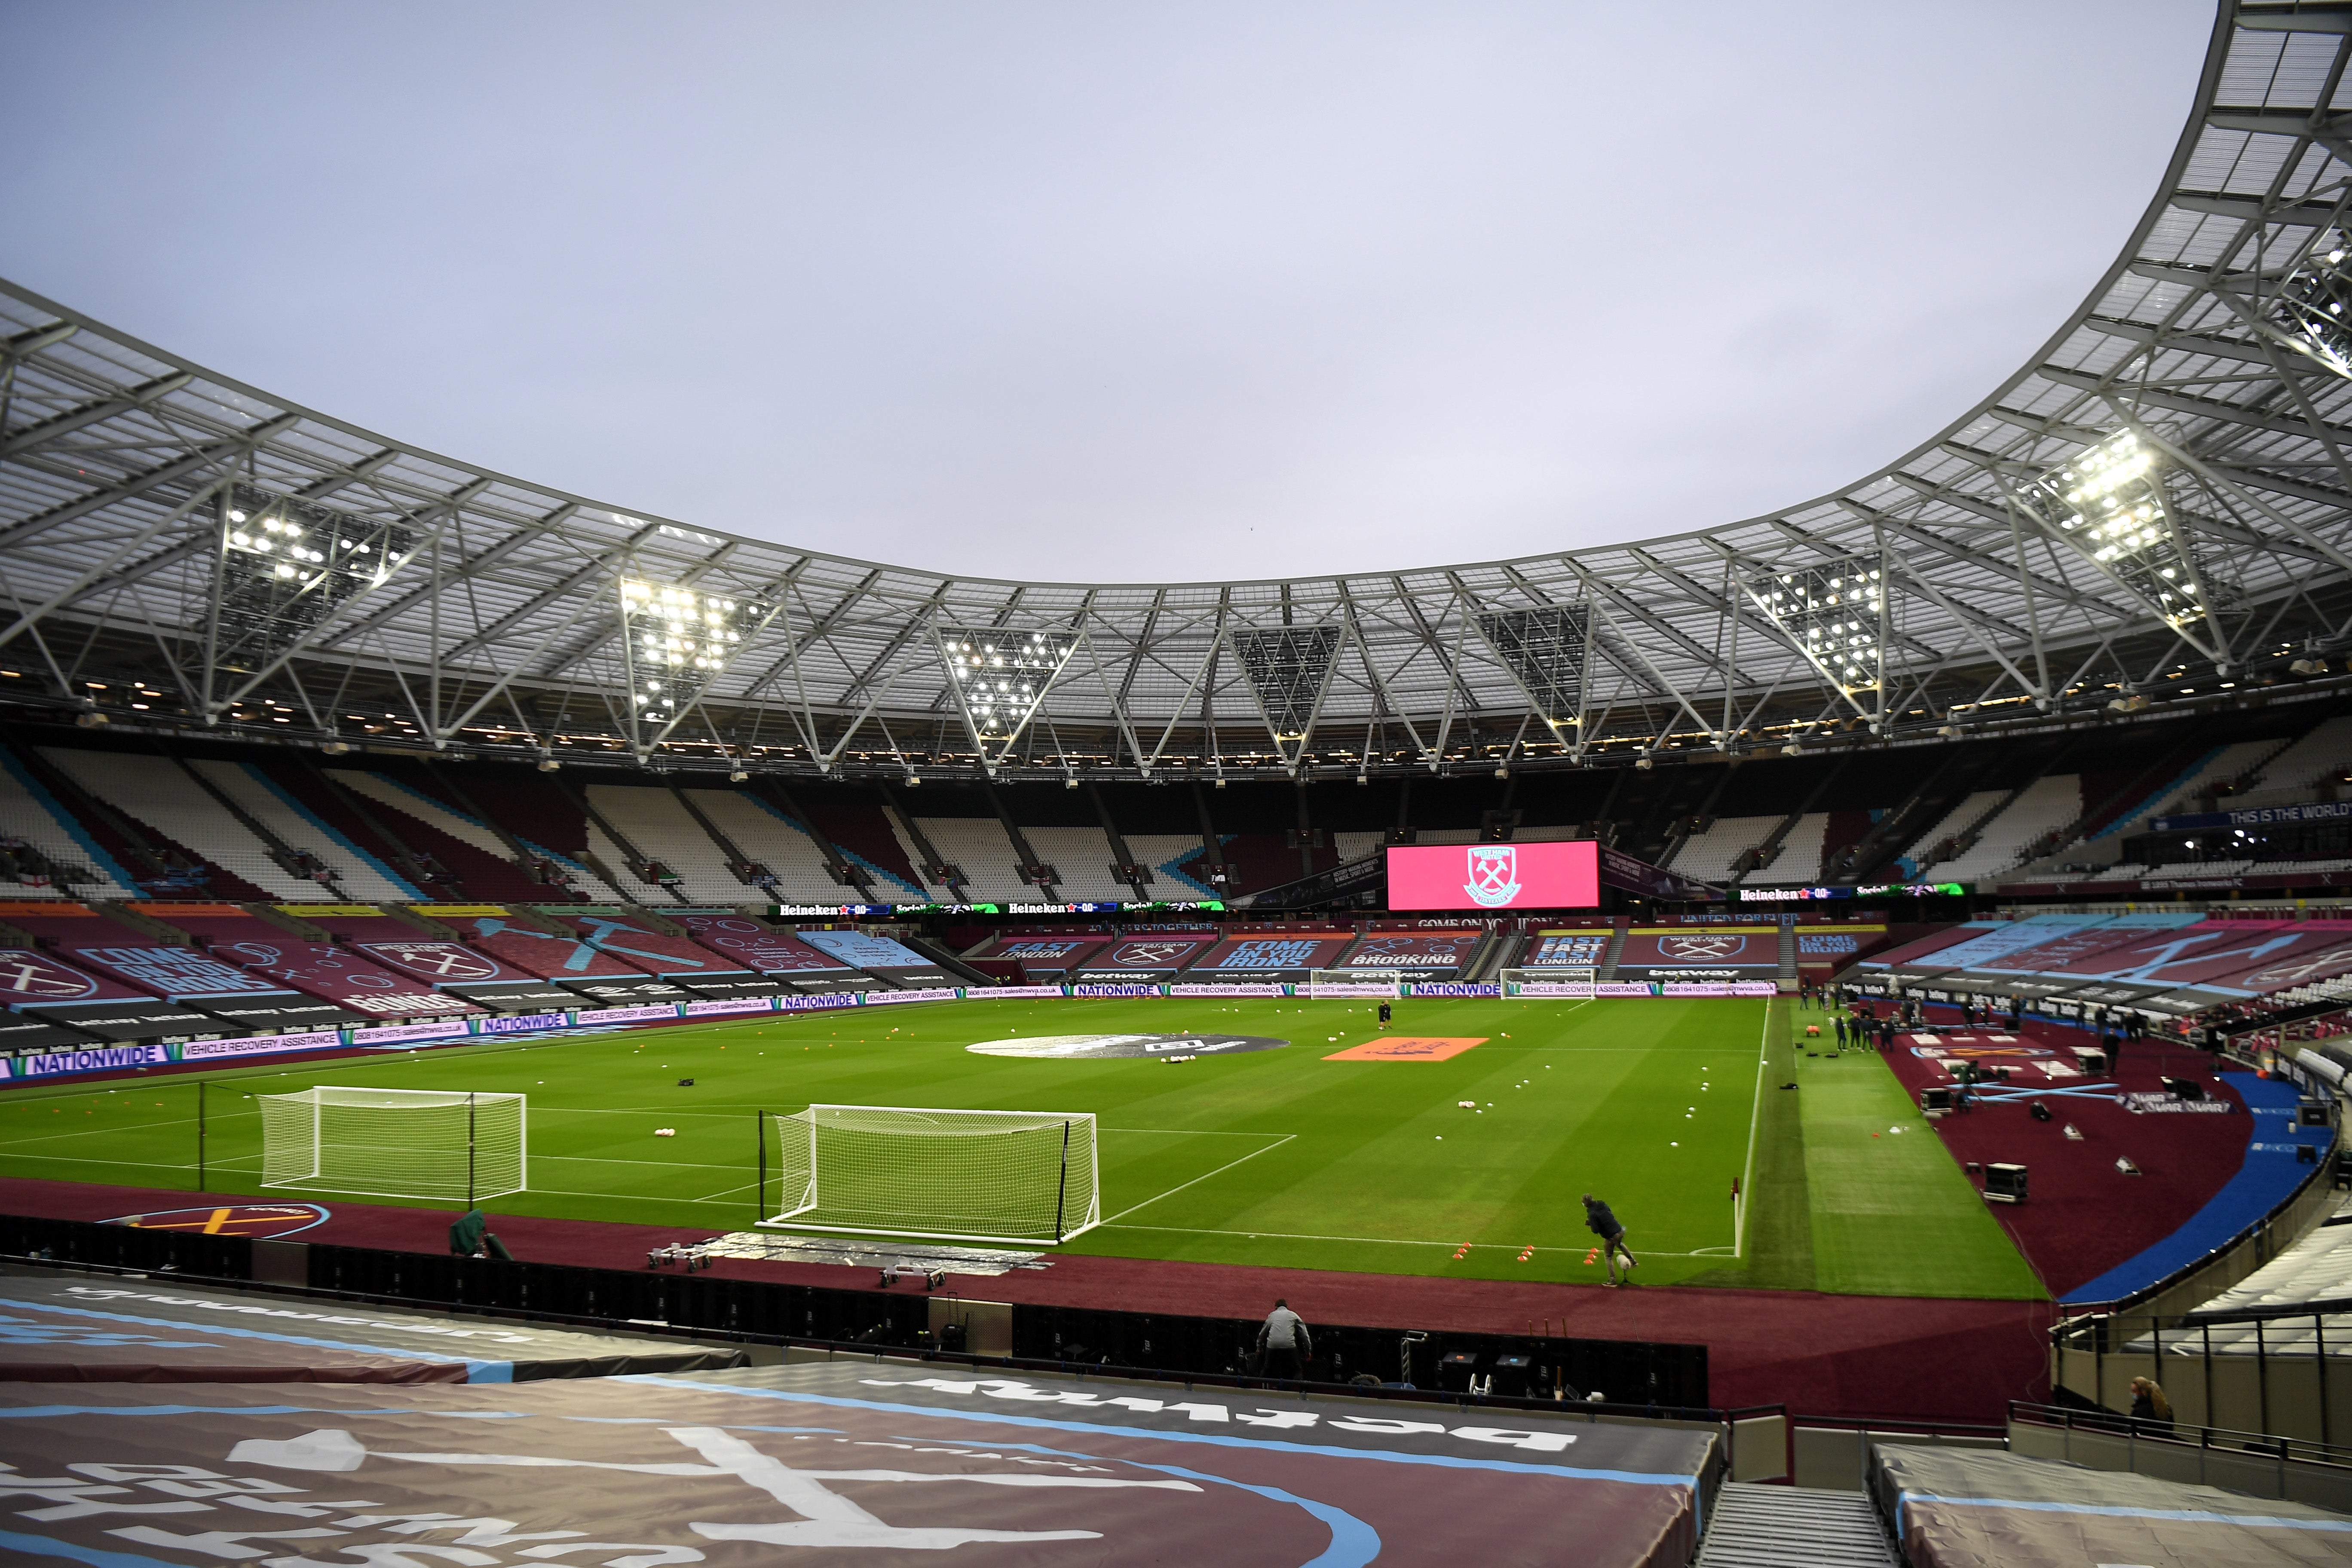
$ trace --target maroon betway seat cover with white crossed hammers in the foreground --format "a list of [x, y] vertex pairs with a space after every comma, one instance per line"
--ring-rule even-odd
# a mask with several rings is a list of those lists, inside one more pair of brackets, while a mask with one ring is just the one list
[[[1708, 1425], [863, 1356], [621, 1382], [397, 1399], [92, 1387], [66, 1401], [0, 1385], [0, 1460], [68, 1493], [0, 1521], [0, 1552], [181, 1563], [198, 1561], [191, 1540], [301, 1530], [249, 1544], [315, 1561], [442, 1547], [437, 1561], [480, 1540], [517, 1552], [494, 1561], [548, 1561], [520, 1556], [529, 1542], [600, 1568], [750, 1568], [779, 1552], [946, 1561], [957, 1547], [983, 1561], [1355, 1568], [1454, 1556], [1475, 1528], [1477, 1561], [1498, 1568], [1557, 1563], [1566, 1542], [1592, 1568], [1665, 1568], [1696, 1552], [1719, 1472]], [[71, 1507], [85, 1495], [101, 1507]]]

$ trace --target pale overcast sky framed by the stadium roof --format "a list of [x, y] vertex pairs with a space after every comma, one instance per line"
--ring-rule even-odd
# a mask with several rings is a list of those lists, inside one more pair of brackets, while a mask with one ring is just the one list
[[0, 273], [623, 510], [985, 576], [1839, 487], [2114, 259], [2204, 0], [0, 0]]

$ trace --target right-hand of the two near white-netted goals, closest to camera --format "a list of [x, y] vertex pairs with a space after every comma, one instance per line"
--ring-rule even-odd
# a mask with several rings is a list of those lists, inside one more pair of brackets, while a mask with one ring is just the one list
[[1103, 1222], [1091, 1112], [811, 1105], [769, 1124], [762, 1225], [1054, 1246]]

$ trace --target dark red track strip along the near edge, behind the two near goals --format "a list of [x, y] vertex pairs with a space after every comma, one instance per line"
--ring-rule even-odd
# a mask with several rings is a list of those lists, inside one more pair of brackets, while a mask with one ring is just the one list
[[[202, 1201], [270, 1199], [0, 1178], [0, 1211], [52, 1220], [113, 1220]], [[449, 1251], [454, 1208], [327, 1206], [334, 1215], [303, 1232], [301, 1241], [397, 1253]], [[600, 1269], [642, 1269], [647, 1251], [713, 1234], [675, 1225], [527, 1215], [496, 1215], [492, 1225], [524, 1262]], [[720, 1258], [710, 1272], [835, 1291], [875, 1288], [873, 1269], [823, 1262]], [[1710, 1399], [1719, 1408], [1788, 1403], [1802, 1415], [1985, 1425], [2006, 1418], [2009, 1399], [2049, 1394], [2046, 1335], [2058, 1316], [2053, 1302], [1677, 1286], [1604, 1291], [1089, 1255], [1058, 1255], [1054, 1267], [1035, 1272], [950, 1274], [948, 1288], [974, 1300], [1016, 1305], [1237, 1319], [1265, 1316], [1275, 1298], [1287, 1298], [1310, 1324], [1439, 1333], [1515, 1335], [1550, 1319], [1555, 1333], [1569, 1338], [1705, 1345]]]

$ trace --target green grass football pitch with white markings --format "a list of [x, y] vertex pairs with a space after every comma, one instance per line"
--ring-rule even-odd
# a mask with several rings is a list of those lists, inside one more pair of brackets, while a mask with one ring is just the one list
[[[682, 1234], [776, 1211], [776, 1182], [757, 1192], [762, 1112], [1094, 1112], [1103, 1225], [1073, 1253], [1595, 1284], [1592, 1192], [1642, 1284], [2044, 1293], [1886, 1065], [1804, 1056], [1792, 1023], [1818, 1016], [1788, 999], [1395, 1011], [1383, 1032], [1364, 999], [901, 1004], [207, 1072], [205, 1187], [263, 1194], [252, 1095], [313, 1084], [522, 1093], [529, 1190], [492, 1213]], [[1181, 1063], [967, 1048], [1188, 1032], [1289, 1044]], [[1334, 1060], [1397, 1037], [1449, 1044]], [[0, 1175], [193, 1190], [195, 1173], [195, 1077], [0, 1095]]]

